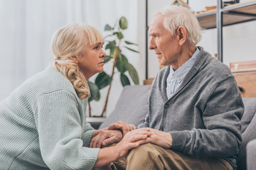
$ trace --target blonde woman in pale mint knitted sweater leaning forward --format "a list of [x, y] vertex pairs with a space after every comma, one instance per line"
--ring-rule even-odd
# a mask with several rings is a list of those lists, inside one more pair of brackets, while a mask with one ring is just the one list
[[[134, 127], [119, 122], [94, 130], [85, 119], [87, 79], [103, 71], [103, 43], [92, 26], [55, 33], [55, 60], [0, 103], [0, 169], [92, 169], [144, 143], [147, 129], [127, 132]], [[119, 143], [100, 149], [113, 142]]]

